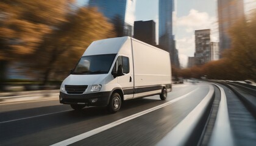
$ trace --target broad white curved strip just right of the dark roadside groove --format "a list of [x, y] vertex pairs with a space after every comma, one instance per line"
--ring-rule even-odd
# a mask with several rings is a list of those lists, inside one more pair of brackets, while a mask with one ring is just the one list
[[[215, 83], [212, 83], [216, 85]], [[219, 102], [218, 114], [216, 117], [213, 133], [210, 138], [210, 145], [234, 145], [232, 129], [230, 127], [229, 111], [227, 109], [227, 97], [221, 86], [216, 85], [221, 91], [221, 102]]]

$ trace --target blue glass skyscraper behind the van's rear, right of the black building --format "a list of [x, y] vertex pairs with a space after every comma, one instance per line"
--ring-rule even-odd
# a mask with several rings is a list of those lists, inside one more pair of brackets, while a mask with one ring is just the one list
[[179, 68], [179, 55], [172, 35], [173, 0], [159, 1], [159, 47], [170, 53], [171, 63]]

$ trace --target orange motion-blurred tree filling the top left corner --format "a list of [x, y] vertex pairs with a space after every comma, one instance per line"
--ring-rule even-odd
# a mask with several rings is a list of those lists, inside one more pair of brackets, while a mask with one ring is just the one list
[[44, 36], [66, 21], [71, 0], [0, 1], [0, 83], [7, 65], [33, 54]]

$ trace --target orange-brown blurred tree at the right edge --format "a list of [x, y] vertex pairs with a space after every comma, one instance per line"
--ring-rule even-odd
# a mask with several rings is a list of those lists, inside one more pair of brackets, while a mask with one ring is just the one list
[[229, 31], [232, 48], [226, 57], [244, 77], [256, 81], [256, 10], [249, 19], [238, 21]]

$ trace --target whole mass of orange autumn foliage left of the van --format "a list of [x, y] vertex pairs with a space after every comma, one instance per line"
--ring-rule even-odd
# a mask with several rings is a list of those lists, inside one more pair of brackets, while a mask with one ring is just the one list
[[112, 32], [101, 13], [75, 7], [73, 0], [2, 0], [0, 83], [15, 62], [24, 74], [44, 83], [62, 78], [92, 41], [112, 37]]

